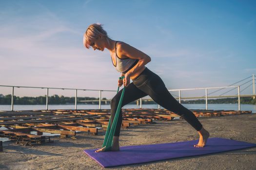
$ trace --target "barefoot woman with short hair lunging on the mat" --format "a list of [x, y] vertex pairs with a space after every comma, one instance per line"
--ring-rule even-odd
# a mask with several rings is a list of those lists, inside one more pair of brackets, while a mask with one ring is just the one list
[[[91, 24], [83, 37], [84, 46], [89, 49], [92, 47], [94, 50], [104, 51], [107, 48], [110, 51], [112, 63], [118, 72], [121, 72], [121, 76], [125, 76], [123, 80], [118, 80], [118, 86], [125, 85], [125, 94], [121, 106], [124, 106], [130, 102], [138, 100], [142, 97], [149, 95], [155, 102], [170, 110], [191, 124], [199, 134], [199, 142], [194, 147], [204, 147], [209, 132], [206, 131], [197, 117], [182, 106], [177, 100], [170, 94], [165, 87], [161, 78], [145, 67], [147, 63], [151, 61], [151, 58], [137, 50], [136, 48], [121, 42], [115, 41], [108, 37], [106, 31], [103, 30], [101, 24]], [[130, 79], [133, 80], [130, 83]], [[122, 93], [122, 89], [111, 100], [111, 125], [113, 123], [118, 102]], [[118, 113], [118, 122], [113, 139], [112, 151], [119, 151], [119, 134], [122, 124], [122, 111]], [[97, 150], [96, 152], [104, 152], [105, 147]]]

